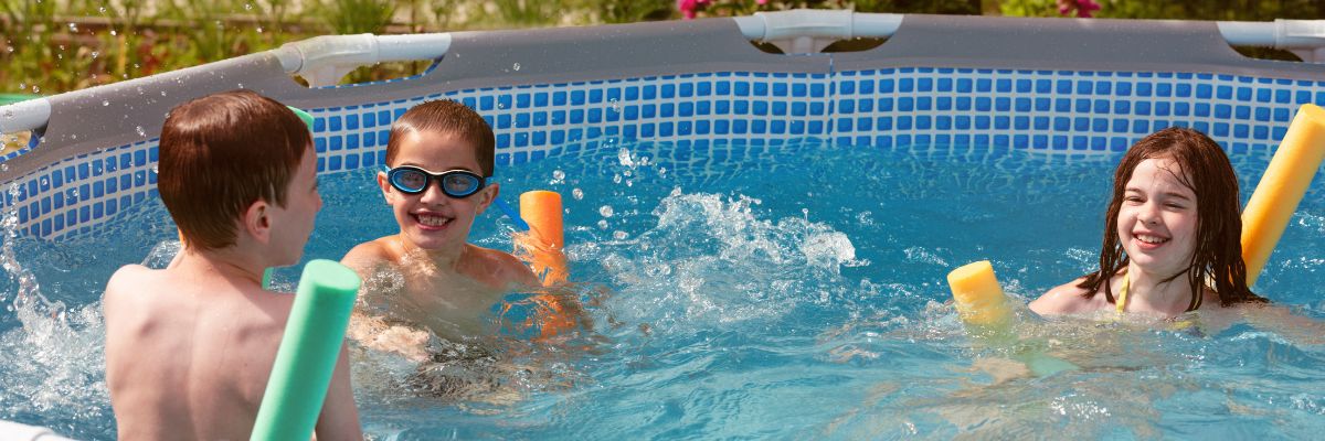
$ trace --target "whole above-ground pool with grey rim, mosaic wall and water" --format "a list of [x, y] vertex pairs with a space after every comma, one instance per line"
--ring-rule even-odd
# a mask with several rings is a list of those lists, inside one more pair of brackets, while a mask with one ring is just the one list
[[[425, 99], [494, 126], [504, 199], [564, 197], [566, 295], [592, 328], [533, 342], [494, 306], [492, 335], [437, 340], [424, 366], [355, 350], [375, 438], [1325, 429], [1320, 181], [1255, 286], [1291, 317], [1175, 330], [1024, 307], [1096, 265], [1130, 143], [1208, 132], [1246, 201], [1297, 106], [1325, 103], [1325, 68], [1240, 58], [1214, 24], [892, 19], [856, 53], [767, 54], [701, 20], [454, 34], [429, 73], [375, 85], [298, 89], [254, 54], [50, 97], [40, 140], [0, 163], [0, 420], [114, 437], [101, 291], [178, 248], [154, 189], [160, 117], [242, 85], [317, 118], [325, 208], [306, 258], [395, 232], [372, 173], [391, 121]], [[1076, 52], [1045, 57], [1044, 41]], [[473, 242], [510, 249], [498, 211], [474, 225]], [[969, 335], [947, 302], [947, 271], [978, 260], [1016, 305], [1015, 342]], [[1024, 354], [1077, 368], [1035, 375]]]

